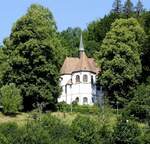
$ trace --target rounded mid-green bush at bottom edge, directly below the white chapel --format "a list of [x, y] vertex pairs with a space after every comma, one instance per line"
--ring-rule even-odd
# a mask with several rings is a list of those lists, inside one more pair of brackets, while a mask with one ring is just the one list
[[71, 125], [74, 139], [81, 144], [99, 143], [98, 130], [94, 121], [86, 116], [77, 116]]

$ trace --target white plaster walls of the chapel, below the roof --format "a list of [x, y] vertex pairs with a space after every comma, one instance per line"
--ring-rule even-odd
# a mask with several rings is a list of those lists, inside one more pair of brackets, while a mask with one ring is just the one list
[[[88, 81], [83, 82], [83, 75], [88, 76]], [[76, 82], [76, 75], [80, 76], [80, 83]], [[93, 76], [93, 83], [96, 83], [96, 75], [90, 72], [76, 72], [72, 75], [62, 75], [61, 86], [62, 94], [58, 98], [58, 102], [65, 101], [71, 104], [76, 98], [79, 98], [79, 104], [83, 105], [83, 98], [87, 97], [89, 105], [93, 105], [93, 96], [96, 97], [96, 86], [91, 85], [91, 76]], [[69, 80], [72, 79], [72, 85], [66, 85]], [[65, 87], [67, 90], [65, 91]]]

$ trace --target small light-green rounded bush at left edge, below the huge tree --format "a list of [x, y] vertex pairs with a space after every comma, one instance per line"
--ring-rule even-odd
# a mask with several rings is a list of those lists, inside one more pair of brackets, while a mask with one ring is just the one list
[[4, 114], [15, 114], [22, 109], [22, 97], [15, 84], [5, 85], [0, 89], [0, 101]]

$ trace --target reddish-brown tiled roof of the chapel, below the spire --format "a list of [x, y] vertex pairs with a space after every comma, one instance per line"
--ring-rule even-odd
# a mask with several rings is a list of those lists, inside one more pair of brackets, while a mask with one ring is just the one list
[[77, 71], [90, 71], [98, 74], [100, 68], [96, 66], [93, 58], [88, 58], [85, 52], [80, 52], [80, 58], [67, 57], [61, 68], [61, 74], [71, 74]]

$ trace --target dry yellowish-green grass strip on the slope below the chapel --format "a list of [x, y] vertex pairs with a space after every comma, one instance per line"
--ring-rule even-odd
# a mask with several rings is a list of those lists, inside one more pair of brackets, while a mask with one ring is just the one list
[[[81, 113], [54, 112], [51, 114], [61, 119], [65, 124], [70, 125], [71, 122], [74, 120], [74, 118]], [[0, 113], [0, 124], [4, 122], [16, 122], [17, 124], [22, 125], [25, 122], [27, 122], [27, 120], [31, 119], [32, 117], [31, 115], [33, 115], [33, 113], [19, 113], [16, 116], [5, 116], [2, 113]], [[96, 121], [100, 125], [103, 124], [104, 122], [107, 122], [107, 124], [109, 124], [111, 127], [116, 123], [117, 120], [116, 114], [112, 112], [110, 109], [106, 109], [104, 114], [100, 112], [99, 114], [81, 114], [81, 115], [87, 116], [87, 118]]]

